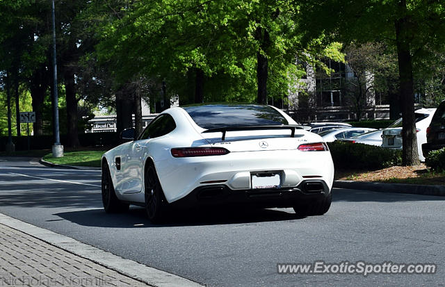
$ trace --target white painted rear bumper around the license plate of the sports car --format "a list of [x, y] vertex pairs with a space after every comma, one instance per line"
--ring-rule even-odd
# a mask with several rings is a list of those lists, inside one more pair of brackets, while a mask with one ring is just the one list
[[329, 151], [231, 152], [225, 156], [174, 158], [155, 165], [169, 203], [188, 196], [209, 181], [218, 181], [231, 190], [249, 190], [254, 172], [281, 172], [283, 188], [295, 188], [305, 177], [316, 177], [332, 188], [334, 180]]

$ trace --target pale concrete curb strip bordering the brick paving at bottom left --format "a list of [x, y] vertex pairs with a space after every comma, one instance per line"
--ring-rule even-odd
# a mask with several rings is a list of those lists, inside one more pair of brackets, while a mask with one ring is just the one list
[[143, 265], [136, 261], [124, 259], [118, 255], [106, 252], [92, 245], [81, 243], [74, 238], [62, 234], [36, 227], [33, 224], [11, 218], [8, 215], [0, 213], [0, 224], [6, 225], [12, 229], [22, 231], [23, 233], [42, 240], [50, 245], [56, 246], [83, 259], [88, 259], [108, 269], [115, 270], [127, 277], [142, 281], [149, 286], [156, 287], [202, 287], [190, 279], [180, 277], [176, 274], [165, 272], [156, 268]]

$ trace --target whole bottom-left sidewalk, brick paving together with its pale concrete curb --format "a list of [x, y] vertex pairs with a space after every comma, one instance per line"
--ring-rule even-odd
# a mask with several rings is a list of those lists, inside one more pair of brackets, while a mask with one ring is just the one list
[[3, 213], [0, 259], [0, 286], [203, 286]]

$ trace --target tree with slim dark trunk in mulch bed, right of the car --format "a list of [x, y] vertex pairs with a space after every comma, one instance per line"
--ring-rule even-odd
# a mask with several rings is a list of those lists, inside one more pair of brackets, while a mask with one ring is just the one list
[[445, 34], [437, 33], [445, 29], [443, 2], [307, 0], [302, 2], [302, 15], [302, 25], [306, 25], [309, 35], [325, 33], [342, 42], [381, 41], [396, 49], [403, 116], [403, 165], [419, 164], [413, 65], [429, 51], [444, 50]]

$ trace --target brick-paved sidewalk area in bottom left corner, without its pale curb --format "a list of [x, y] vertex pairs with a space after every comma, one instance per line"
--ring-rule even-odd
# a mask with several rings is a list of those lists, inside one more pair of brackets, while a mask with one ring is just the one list
[[0, 286], [149, 286], [0, 224]]

